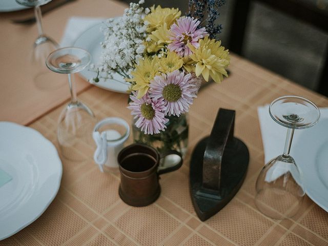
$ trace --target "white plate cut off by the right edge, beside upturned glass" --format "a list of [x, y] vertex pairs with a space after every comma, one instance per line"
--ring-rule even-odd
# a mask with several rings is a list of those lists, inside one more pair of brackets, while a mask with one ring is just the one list
[[293, 156], [302, 172], [305, 192], [328, 212], [328, 118], [297, 134]]

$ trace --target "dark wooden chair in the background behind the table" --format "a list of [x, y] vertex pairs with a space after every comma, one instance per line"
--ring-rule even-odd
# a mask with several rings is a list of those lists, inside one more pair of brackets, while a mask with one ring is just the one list
[[[236, 0], [229, 37], [229, 49], [239, 55], [242, 52], [245, 27], [252, 1], [263, 3], [328, 33], [328, 11], [317, 8], [310, 0]], [[326, 45], [325, 61], [317, 92], [328, 96], [328, 44]]]

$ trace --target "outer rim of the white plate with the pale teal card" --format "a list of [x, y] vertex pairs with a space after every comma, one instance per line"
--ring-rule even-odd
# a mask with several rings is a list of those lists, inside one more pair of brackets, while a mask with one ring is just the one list
[[31, 133], [37, 135], [38, 137], [40, 137], [40, 139], [43, 139], [43, 141], [45, 143], [48, 144], [48, 146], [54, 150], [53, 151], [53, 154], [54, 156], [56, 157], [56, 159], [58, 160], [58, 163], [60, 165], [58, 165], [59, 167], [59, 170], [58, 171], [58, 177], [57, 177], [57, 183], [56, 183], [56, 188], [54, 189], [53, 193], [50, 195], [50, 198], [48, 200], [48, 202], [46, 202], [46, 204], [44, 204], [43, 206], [43, 209], [40, 210], [40, 212], [38, 212], [38, 214], [36, 216], [32, 215], [30, 216], [29, 219], [27, 219], [26, 222], [24, 222], [24, 224], [22, 224], [21, 226], [18, 226], [16, 230], [8, 233], [8, 234], [5, 234], [5, 235], [0, 235], [0, 240], [4, 240], [14, 234], [16, 234], [17, 232], [19, 232], [20, 230], [24, 229], [25, 227], [29, 226], [29, 224], [33, 223], [36, 219], [38, 219], [46, 210], [47, 208], [49, 207], [49, 205], [51, 204], [51, 202], [54, 200], [54, 198], [56, 197], [58, 191], [59, 191], [59, 188], [60, 188], [60, 182], [61, 182], [61, 177], [63, 176], [63, 166], [61, 164], [61, 160], [59, 158], [59, 155], [58, 155], [58, 152], [57, 152], [57, 149], [56, 147], [52, 144], [52, 142], [47, 139], [46, 137], [44, 137], [41, 133], [39, 133], [38, 131], [36, 131], [35, 129], [33, 128], [30, 128], [30, 127], [25, 127], [25, 126], [22, 126], [22, 125], [19, 125], [19, 124], [16, 124], [14, 122], [9, 122], [9, 121], [0, 121], [0, 127], [2, 127], [1, 125], [11, 125], [11, 126], [14, 126], [16, 128], [20, 128], [20, 129], [24, 129], [25, 131], [30, 131]]

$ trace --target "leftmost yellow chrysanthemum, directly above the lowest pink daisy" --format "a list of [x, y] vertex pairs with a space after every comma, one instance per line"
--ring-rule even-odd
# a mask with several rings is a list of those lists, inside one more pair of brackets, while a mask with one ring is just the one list
[[145, 58], [140, 59], [138, 65], [135, 66], [135, 70], [131, 72], [133, 78], [126, 79], [129, 82], [135, 82], [132, 90], [138, 91], [138, 98], [144, 96], [150, 85], [150, 81], [158, 74], [158, 57], [153, 59]]

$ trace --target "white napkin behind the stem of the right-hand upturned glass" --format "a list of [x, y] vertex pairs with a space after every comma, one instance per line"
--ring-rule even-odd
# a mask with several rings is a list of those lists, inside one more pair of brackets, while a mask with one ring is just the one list
[[[264, 162], [267, 163], [272, 158], [283, 153], [287, 128], [280, 126], [271, 118], [269, 115], [269, 105], [258, 107], [257, 112], [260, 121], [262, 143], [264, 148]], [[328, 118], [328, 108], [320, 108], [320, 113], [320, 120], [323, 118]], [[316, 132], [316, 128], [314, 127], [295, 130], [291, 148], [291, 156], [294, 157], [296, 162], [297, 156], [293, 155], [293, 146], [295, 146], [299, 140], [299, 131], [313, 131], [313, 134], [322, 134], [320, 132]]]

